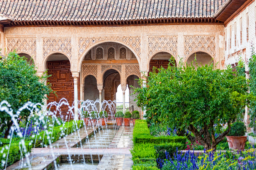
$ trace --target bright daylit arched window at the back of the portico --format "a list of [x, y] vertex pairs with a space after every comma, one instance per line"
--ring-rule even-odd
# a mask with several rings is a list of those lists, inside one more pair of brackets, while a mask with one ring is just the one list
[[[125, 111], [129, 110], [129, 101], [129, 88], [127, 84], [125, 90]], [[118, 85], [116, 91], [116, 110], [123, 111], [123, 90], [121, 89], [121, 84]]]

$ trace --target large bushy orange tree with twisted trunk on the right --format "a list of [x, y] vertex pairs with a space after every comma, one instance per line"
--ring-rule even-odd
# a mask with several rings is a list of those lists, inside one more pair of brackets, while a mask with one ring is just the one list
[[[186, 135], [191, 142], [197, 140], [205, 149], [216, 149], [237, 113], [252, 98], [245, 77], [234, 75], [230, 66], [220, 70], [209, 64], [195, 69], [192, 63], [180, 62], [177, 67], [153, 71], [147, 78], [146, 87], [134, 91], [138, 93], [137, 104], [146, 110], [147, 121], [176, 127], [178, 135]], [[226, 123], [228, 128], [215, 137], [214, 127]]]

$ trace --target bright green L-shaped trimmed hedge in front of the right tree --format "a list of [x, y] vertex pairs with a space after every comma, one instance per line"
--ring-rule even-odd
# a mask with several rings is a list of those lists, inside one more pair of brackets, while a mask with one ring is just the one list
[[182, 143], [186, 144], [186, 137], [183, 136], [160, 136], [154, 137], [150, 135], [149, 128], [145, 120], [136, 120], [133, 130], [133, 143]]

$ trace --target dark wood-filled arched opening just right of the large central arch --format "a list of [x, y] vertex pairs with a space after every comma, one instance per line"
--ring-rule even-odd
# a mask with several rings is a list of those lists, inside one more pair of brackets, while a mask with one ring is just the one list
[[[169, 60], [172, 58], [172, 55], [168, 52], [158, 52], [156, 53], [149, 62], [149, 71], [153, 71], [153, 67], [156, 67], [156, 72], [158, 72], [158, 68], [161, 66], [163, 68], [168, 68]], [[177, 65], [176, 60], [173, 59], [173, 63]], [[170, 65], [173, 65], [170, 63]]]

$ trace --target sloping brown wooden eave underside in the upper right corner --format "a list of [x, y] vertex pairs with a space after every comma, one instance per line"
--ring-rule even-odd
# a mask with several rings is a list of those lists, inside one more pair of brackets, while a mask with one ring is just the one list
[[[247, 0], [252, 1], [252, 0]], [[244, 3], [246, 0], [231, 0], [226, 7], [221, 11], [221, 13], [216, 16], [216, 20], [220, 22], [225, 22], [231, 15], [233, 15]]]

